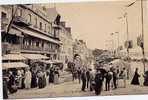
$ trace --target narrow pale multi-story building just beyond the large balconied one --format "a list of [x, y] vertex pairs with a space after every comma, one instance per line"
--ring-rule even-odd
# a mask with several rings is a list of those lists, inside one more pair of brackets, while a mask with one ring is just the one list
[[64, 64], [73, 61], [73, 39], [71, 28], [66, 27], [65, 22], [60, 22], [60, 40], [62, 42], [60, 49], [60, 59]]

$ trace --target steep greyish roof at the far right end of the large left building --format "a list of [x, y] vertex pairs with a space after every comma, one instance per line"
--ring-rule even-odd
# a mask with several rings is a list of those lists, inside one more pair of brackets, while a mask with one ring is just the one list
[[56, 17], [58, 16], [58, 12], [56, 8], [47, 8], [47, 13], [50, 22], [54, 22]]

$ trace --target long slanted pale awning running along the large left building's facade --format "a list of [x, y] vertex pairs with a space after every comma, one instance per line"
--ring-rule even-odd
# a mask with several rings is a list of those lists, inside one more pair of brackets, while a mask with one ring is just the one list
[[49, 41], [49, 42], [52, 42], [52, 43], [55, 43], [55, 44], [60, 44], [60, 41], [54, 40], [54, 39], [50, 38], [49, 36], [45, 36], [43, 33], [33, 32], [33, 31], [30, 31], [30, 30], [25, 29], [25, 28], [21, 29], [21, 28], [16, 27], [16, 26], [13, 26], [13, 27], [17, 28], [21, 32], [28, 34], [30, 36], [34, 36], [34, 37], [37, 37], [37, 38], [40, 38], [40, 39], [44, 39], [46, 41]]

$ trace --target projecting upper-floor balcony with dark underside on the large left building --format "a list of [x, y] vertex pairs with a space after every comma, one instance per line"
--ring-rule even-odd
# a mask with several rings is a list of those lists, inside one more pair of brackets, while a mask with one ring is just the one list
[[16, 16], [14, 18], [14, 24], [19, 25], [19, 26], [30, 26], [31, 23], [27, 22], [25, 18], [22, 16]]

